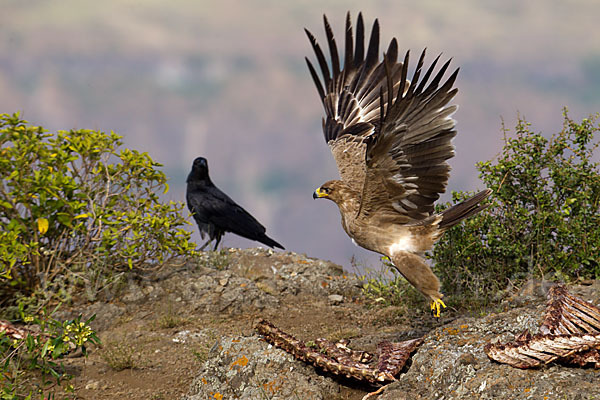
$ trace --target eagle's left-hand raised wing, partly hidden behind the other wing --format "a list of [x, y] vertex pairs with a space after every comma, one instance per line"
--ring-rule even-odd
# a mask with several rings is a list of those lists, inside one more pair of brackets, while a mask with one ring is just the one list
[[[340, 176], [352, 189], [361, 192], [365, 180], [366, 138], [379, 124], [380, 93], [387, 93], [388, 75], [397, 90], [402, 64], [396, 62], [398, 45], [395, 39], [387, 50], [388, 71], [379, 61], [379, 23], [375, 20], [368, 47], [365, 49], [365, 30], [362, 14], [356, 24], [356, 43], [353, 43], [350, 13], [346, 16], [346, 43], [343, 68], [327, 17], [323, 16], [331, 57], [330, 66], [315, 37], [305, 29], [319, 63], [322, 80], [306, 58], [311, 76], [325, 108], [323, 133], [333, 153]], [[365, 54], [366, 50], [366, 54]], [[408, 84], [408, 83], [407, 83]]]

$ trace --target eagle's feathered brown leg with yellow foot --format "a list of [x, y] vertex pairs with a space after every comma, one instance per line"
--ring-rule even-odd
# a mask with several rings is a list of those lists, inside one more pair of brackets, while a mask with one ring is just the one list
[[441, 309], [446, 307], [442, 301], [444, 295], [440, 293], [439, 279], [423, 257], [408, 251], [396, 251], [390, 255], [390, 260], [411, 285], [431, 299], [431, 312], [438, 318]]

